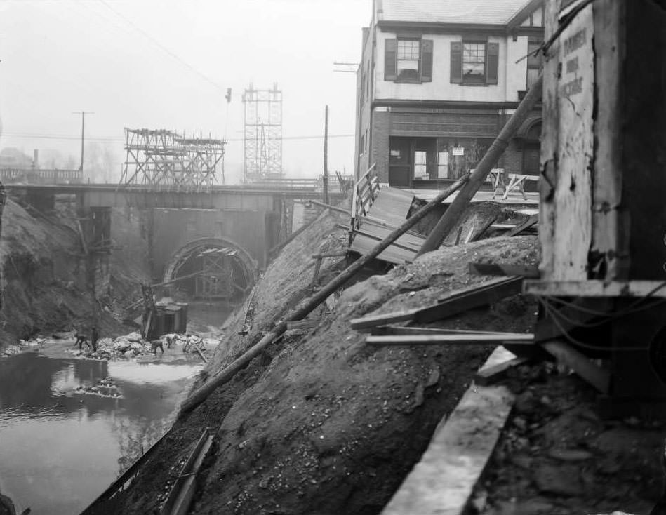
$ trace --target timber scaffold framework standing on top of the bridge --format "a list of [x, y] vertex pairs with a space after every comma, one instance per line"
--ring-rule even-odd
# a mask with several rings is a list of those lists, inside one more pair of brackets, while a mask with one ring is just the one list
[[[214, 186], [226, 144], [224, 140], [194, 135], [188, 138], [166, 129], [125, 128], [126, 159], [120, 185], [178, 190]], [[221, 182], [225, 183], [224, 166]]]

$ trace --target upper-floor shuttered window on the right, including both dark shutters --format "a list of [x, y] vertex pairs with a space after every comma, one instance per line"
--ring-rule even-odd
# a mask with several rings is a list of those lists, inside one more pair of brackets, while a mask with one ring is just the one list
[[451, 83], [486, 86], [498, 83], [500, 45], [486, 41], [451, 42]]

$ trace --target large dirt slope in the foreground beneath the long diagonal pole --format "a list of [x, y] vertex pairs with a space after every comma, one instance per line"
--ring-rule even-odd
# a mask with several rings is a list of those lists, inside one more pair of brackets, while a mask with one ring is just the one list
[[[331, 213], [283, 250], [258, 286], [251, 334], [232, 333], [208, 367], [216, 373], [293, 307], [312, 278], [312, 253], [342, 248], [347, 234]], [[377, 514], [458, 402], [491, 351], [482, 347], [368, 347], [349, 320], [435, 302], [449, 290], [481, 283], [472, 260], [535, 265], [533, 237], [444, 248], [345, 290], [309, 319], [307, 334], [285, 337], [232, 382], [176, 422], [164, 445], [124, 495], [124, 513], [153, 513], [170, 470], [213, 427], [213, 453], [199, 477], [195, 514]], [[330, 267], [335, 263], [327, 263]], [[329, 274], [334, 272], [330, 269]], [[526, 332], [535, 306], [512, 297], [439, 326]]]

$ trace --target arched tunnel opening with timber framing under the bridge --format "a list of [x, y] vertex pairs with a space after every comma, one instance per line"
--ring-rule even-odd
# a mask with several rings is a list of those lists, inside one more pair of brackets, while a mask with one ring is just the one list
[[[225, 273], [229, 275], [225, 276]], [[244, 300], [258, 276], [258, 263], [247, 250], [227, 238], [190, 241], [176, 250], [164, 267], [164, 282], [172, 284], [170, 289], [175, 285], [171, 281], [188, 277], [179, 281], [178, 287], [192, 298], [202, 298], [203, 295], [204, 298], [223, 298], [230, 302]], [[229, 288], [225, 288], [227, 283]]]

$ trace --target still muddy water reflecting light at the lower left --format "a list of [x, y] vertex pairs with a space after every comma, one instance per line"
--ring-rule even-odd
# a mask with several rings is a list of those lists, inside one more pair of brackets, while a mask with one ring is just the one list
[[[192, 364], [0, 359], [0, 492], [18, 513], [77, 514], [166, 431]], [[111, 376], [120, 399], [74, 394]]]

